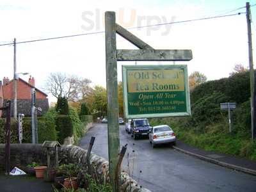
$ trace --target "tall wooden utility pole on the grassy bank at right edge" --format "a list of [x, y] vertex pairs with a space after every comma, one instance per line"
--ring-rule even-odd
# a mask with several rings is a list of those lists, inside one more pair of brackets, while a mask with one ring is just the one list
[[251, 10], [250, 3], [246, 2], [246, 20], [247, 20], [247, 31], [248, 31], [248, 52], [249, 52], [249, 66], [250, 66], [250, 86], [251, 86], [251, 120], [252, 120], [252, 140], [255, 139], [256, 133], [256, 122], [255, 122], [255, 79], [253, 69], [253, 56], [252, 56], [252, 29], [251, 29]]

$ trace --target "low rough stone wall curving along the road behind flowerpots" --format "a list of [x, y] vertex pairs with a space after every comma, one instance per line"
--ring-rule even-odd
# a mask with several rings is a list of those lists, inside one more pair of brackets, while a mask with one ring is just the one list
[[[63, 163], [81, 163], [86, 168], [87, 150], [75, 145], [62, 145], [59, 149], [59, 159]], [[11, 167], [24, 168], [26, 164], [35, 161], [40, 164], [47, 164], [46, 150], [40, 144], [11, 144]], [[0, 168], [4, 169], [4, 144], [0, 144]], [[93, 172], [102, 177], [108, 175], [108, 161], [96, 154], [91, 154], [90, 164]], [[121, 191], [129, 192], [150, 192], [148, 189], [140, 188], [136, 180], [129, 177], [127, 173], [121, 173]]]

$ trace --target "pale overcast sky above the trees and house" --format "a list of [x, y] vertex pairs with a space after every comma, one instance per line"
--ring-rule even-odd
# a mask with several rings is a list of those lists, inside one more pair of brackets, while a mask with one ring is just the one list
[[[6, 1], [0, 2], [0, 44], [104, 31], [104, 12], [115, 11], [116, 22], [125, 28], [165, 22], [198, 19], [245, 12], [246, 1]], [[250, 1], [251, 5], [255, 1]], [[232, 12], [233, 10], [236, 10]], [[252, 7], [253, 40], [256, 33], [256, 6]], [[193, 60], [176, 62], [188, 65], [189, 74], [200, 71], [208, 80], [228, 77], [237, 63], [248, 67], [246, 15], [222, 17], [131, 29], [134, 35], [154, 49], [191, 49]], [[118, 36], [118, 49], [136, 49]], [[253, 41], [255, 49], [255, 41]], [[255, 52], [253, 52], [254, 58]], [[173, 62], [138, 62], [140, 64]], [[118, 62], [118, 80], [122, 64]], [[256, 64], [255, 64], [256, 65]], [[0, 79], [13, 76], [13, 46], [0, 46]], [[91, 79], [106, 86], [104, 33], [61, 38], [17, 45], [17, 72], [29, 72], [36, 87], [43, 89], [51, 72], [63, 72]], [[21, 77], [21, 76], [20, 76]], [[28, 76], [22, 77], [27, 80]], [[50, 101], [53, 101], [49, 95]]]

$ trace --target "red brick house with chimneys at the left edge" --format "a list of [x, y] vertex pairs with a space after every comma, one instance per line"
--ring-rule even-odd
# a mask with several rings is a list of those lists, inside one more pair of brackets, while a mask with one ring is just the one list
[[[1, 88], [3, 95], [3, 105], [7, 100], [12, 100], [11, 114], [13, 115], [13, 80], [9, 80], [8, 77], [4, 77], [3, 84], [0, 86], [0, 98]], [[35, 88], [34, 77], [29, 77], [28, 82], [21, 78], [17, 79], [17, 114], [23, 113], [25, 116], [31, 116], [31, 88]], [[42, 108], [42, 113], [38, 113], [38, 116], [43, 115], [49, 109], [49, 103], [47, 94], [35, 88], [36, 90], [36, 104], [37, 108]], [[0, 100], [1, 101], [1, 100]], [[1, 105], [1, 103], [0, 103]], [[3, 115], [4, 116], [4, 115]], [[1, 117], [1, 113], [0, 113]]]

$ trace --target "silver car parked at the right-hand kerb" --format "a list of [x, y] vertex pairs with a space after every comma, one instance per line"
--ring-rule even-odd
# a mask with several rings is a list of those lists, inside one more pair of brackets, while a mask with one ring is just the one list
[[154, 148], [157, 144], [172, 143], [176, 144], [175, 132], [172, 131], [168, 125], [158, 125], [150, 129], [148, 134], [149, 142], [152, 143]]

